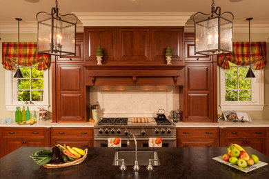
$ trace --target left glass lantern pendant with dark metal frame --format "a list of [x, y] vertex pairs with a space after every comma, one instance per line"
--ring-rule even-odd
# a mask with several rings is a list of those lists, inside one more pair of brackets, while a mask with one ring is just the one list
[[[55, 3], [51, 14], [37, 13], [37, 53], [55, 56], [75, 55], [77, 17], [74, 14], [60, 14], [58, 1]], [[63, 17], [72, 17], [74, 22], [64, 20]]]

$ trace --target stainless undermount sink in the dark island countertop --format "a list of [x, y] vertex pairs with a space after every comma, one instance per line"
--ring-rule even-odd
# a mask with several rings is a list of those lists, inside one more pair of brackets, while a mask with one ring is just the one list
[[[121, 165], [124, 160], [125, 165], [135, 165], [135, 151], [133, 150], [121, 150], [116, 151], [114, 154], [113, 165]], [[160, 165], [157, 151], [143, 150], [137, 151], [137, 160], [139, 166], [147, 166], [151, 159], [151, 165], [157, 166]]]

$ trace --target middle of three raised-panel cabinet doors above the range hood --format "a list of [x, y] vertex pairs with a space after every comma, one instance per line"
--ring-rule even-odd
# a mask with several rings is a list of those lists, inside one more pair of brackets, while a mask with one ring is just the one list
[[150, 59], [150, 29], [119, 29], [119, 60]]

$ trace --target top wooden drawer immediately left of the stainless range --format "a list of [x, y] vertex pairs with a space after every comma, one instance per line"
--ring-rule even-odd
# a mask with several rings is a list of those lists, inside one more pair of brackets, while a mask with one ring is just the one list
[[70, 136], [70, 137], [88, 137], [93, 138], [93, 129], [89, 128], [52, 128], [52, 137], [54, 136]]

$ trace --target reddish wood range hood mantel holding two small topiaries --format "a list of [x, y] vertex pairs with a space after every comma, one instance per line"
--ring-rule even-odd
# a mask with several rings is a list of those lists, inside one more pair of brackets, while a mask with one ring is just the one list
[[84, 85], [183, 85], [185, 65], [83, 65]]

